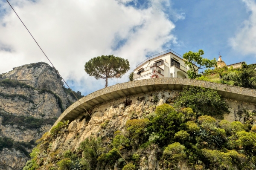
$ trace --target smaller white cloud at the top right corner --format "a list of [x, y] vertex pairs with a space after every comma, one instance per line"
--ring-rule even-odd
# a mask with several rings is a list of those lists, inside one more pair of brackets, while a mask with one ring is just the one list
[[250, 17], [243, 22], [236, 36], [230, 38], [229, 42], [233, 49], [241, 53], [256, 54], [256, 2], [254, 0], [243, 0], [243, 2]]

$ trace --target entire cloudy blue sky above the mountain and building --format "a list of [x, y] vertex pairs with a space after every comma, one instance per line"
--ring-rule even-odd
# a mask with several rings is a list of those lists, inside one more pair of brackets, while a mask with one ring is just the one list
[[[172, 49], [256, 63], [256, 0], [9, 0], [65, 81], [87, 95], [105, 86], [84, 72], [101, 55], [128, 59]], [[6, 0], [0, 0], [0, 73], [47, 61]], [[109, 80], [109, 86], [116, 79]]]

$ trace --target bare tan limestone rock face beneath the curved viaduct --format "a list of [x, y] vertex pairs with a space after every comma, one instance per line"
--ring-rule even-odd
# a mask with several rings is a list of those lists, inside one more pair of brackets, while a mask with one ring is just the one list
[[[174, 97], [178, 93], [176, 91], [163, 90], [157, 92], [159, 96], [169, 94]], [[43, 164], [54, 164], [56, 162], [51, 162], [51, 155], [54, 153], [63, 153], [67, 150], [78, 151], [80, 144], [86, 138], [93, 136], [102, 136], [102, 138], [113, 138], [113, 133], [117, 130], [125, 132], [125, 124], [128, 120], [134, 118], [146, 118], [148, 114], [155, 111], [156, 106], [161, 104], [166, 99], [159, 100], [157, 103], [152, 103], [153, 97], [148, 94], [141, 94], [145, 97], [142, 101], [137, 100], [137, 95], [130, 96], [132, 104], [125, 106], [122, 104], [124, 99], [119, 99], [107, 104], [102, 104], [91, 109], [91, 119], [85, 113], [77, 117], [74, 121], [70, 122], [68, 127], [62, 130], [63, 135], [59, 135], [51, 142], [51, 147], [49, 153], [44, 159]], [[141, 97], [141, 96], [139, 96]], [[99, 130], [102, 128], [102, 130]], [[153, 147], [147, 151], [145, 156], [140, 158], [140, 170], [160, 170], [157, 154], [159, 149]], [[114, 164], [113, 167], [106, 164], [104, 165], [105, 170], [121, 170], [118, 166], [118, 161]], [[102, 168], [102, 167], [101, 167]], [[96, 167], [96, 170], [100, 170], [100, 167]]]

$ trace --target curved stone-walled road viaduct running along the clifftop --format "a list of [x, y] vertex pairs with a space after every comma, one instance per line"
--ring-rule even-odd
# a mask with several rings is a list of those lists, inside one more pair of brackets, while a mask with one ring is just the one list
[[102, 104], [113, 99], [160, 89], [181, 90], [185, 86], [198, 86], [208, 89], [216, 89], [218, 90], [218, 94], [224, 98], [256, 103], [256, 90], [254, 89], [188, 78], [152, 78], [116, 84], [84, 96], [83, 98], [79, 99], [81, 103], [76, 101], [70, 107], [68, 107], [60, 115], [53, 126], [57, 125], [59, 121], [73, 121], [79, 115], [85, 112], [84, 107], [85, 109], [89, 110], [98, 104]]

